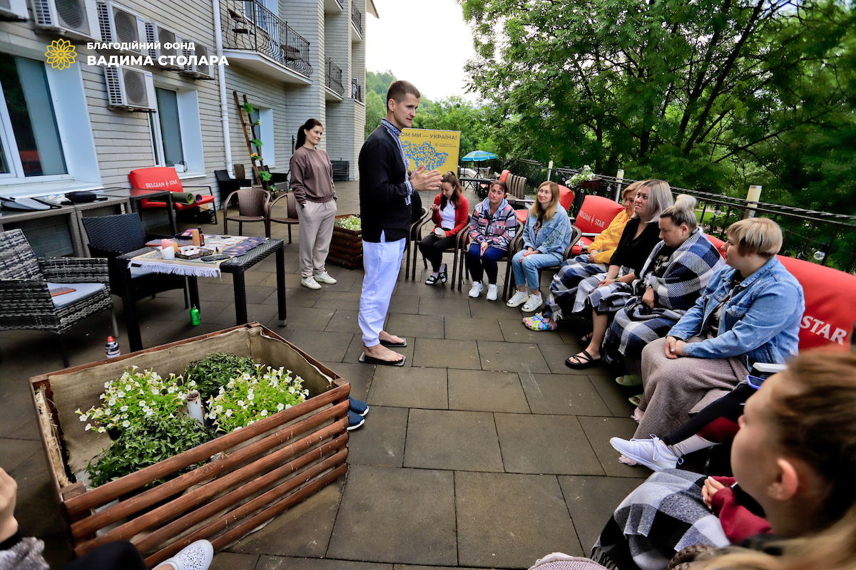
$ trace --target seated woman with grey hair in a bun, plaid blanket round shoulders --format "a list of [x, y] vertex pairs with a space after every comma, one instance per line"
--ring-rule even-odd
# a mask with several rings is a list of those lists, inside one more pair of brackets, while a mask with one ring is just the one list
[[681, 194], [660, 214], [660, 238], [633, 284], [634, 297], [618, 309], [603, 340], [603, 360], [624, 362], [621, 385], [642, 384], [642, 349], [663, 338], [693, 307], [710, 277], [725, 265], [698, 228], [695, 198]]

